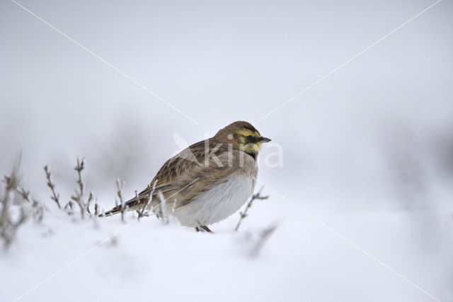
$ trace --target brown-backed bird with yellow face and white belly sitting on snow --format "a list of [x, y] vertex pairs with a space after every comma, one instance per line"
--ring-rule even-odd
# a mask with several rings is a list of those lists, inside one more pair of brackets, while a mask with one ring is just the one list
[[[260, 147], [270, 138], [236, 121], [167, 160], [146, 189], [101, 216], [152, 209], [181, 225], [212, 232], [208, 225], [236, 213], [253, 194]], [[163, 211], [164, 209], [164, 211]]]

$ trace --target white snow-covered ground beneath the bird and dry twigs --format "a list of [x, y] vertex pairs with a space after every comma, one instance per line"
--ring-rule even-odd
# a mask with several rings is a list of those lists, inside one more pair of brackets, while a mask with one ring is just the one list
[[2, 253], [1, 301], [452, 301], [451, 213], [308, 216], [265, 191], [239, 232], [234, 215], [214, 234], [50, 203]]

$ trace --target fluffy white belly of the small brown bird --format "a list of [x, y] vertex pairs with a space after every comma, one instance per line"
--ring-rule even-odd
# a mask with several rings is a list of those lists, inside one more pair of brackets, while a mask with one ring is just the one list
[[246, 203], [255, 189], [255, 179], [243, 173], [232, 174], [227, 181], [214, 186], [190, 203], [175, 209], [182, 225], [197, 227], [224, 220]]

